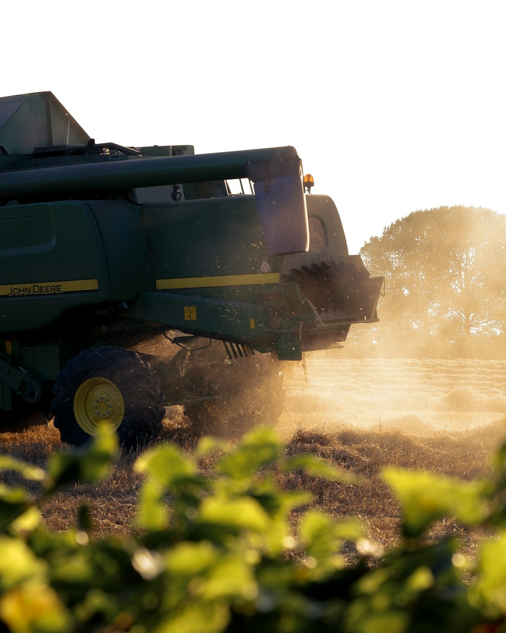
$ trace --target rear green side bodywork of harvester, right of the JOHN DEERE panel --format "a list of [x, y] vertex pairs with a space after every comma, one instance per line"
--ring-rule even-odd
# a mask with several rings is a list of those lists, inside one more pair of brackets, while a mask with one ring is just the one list
[[[349, 323], [365, 317], [317, 319], [314, 308], [288, 280], [292, 268], [352, 259], [331, 199], [307, 196], [307, 207], [314, 248], [310, 241], [309, 253], [269, 257], [254, 196], [146, 204], [145, 225], [156, 279], [175, 280], [180, 287], [140, 293], [125, 316], [188, 334], [243, 342], [259, 351], [274, 349], [282, 358], [300, 358], [304, 334], [308, 341], [311, 338], [311, 345], [319, 335], [325, 341], [343, 340]], [[271, 273], [279, 274], [276, 283], [268, 282]], [[256, 279], [235, 285], [233, 281], [241, 275]], [[230, 279], [212, 285], [216, 277]], [[192, 285], [195, 279], [199, 285]], [[194, 308], [192, 319], [185, 313], [189, 306]]]

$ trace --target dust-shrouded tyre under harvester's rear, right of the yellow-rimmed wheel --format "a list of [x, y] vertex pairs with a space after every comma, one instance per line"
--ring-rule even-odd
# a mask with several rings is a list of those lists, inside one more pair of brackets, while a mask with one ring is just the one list
[[257, 425], [275, 425], [285, 406], [280, 361], [259, 353], [230, 359], [219, 342], [212, 350], [188, 354], [185, 379], [208, 394], [183, 406], [192, 434], [237, 439]]

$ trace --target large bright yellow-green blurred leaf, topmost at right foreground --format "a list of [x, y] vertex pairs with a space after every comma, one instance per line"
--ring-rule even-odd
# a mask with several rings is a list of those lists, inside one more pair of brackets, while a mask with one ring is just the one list
[[438, 518], [454, 517], [474, 526], [487, 515], [486, 486], [481, 482], [395, 467], [383, 469], [382, 477], [400, 500], [406, 536], [419, 536]]

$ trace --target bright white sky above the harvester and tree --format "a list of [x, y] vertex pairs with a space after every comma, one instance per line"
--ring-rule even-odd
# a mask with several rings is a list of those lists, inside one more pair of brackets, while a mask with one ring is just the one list
[[506, 212], [506, 4], [3, 3], [3, 96], [52, 91], [99, 142], [293, 145], [351, 253], [417, 209]]

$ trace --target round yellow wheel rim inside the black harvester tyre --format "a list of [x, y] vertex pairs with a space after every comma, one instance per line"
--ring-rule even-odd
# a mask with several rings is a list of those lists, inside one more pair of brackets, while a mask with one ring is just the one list
[[104, 428], [113, 433], [125, 415], [121, 391], [106, 378], [85, 380], [75, 392], [74, 415], [81, 429], [90, 436], [98, 436]]

